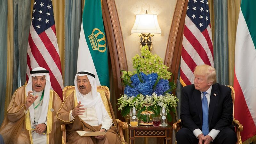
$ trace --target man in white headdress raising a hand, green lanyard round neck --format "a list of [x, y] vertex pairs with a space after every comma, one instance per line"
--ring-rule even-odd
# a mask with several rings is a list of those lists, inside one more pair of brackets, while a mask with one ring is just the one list
[[51, 90], [49, 71], [34, 68], [28, 84], [12, 95], [0, 134], [6, 144], [57, 144], [61, 141], [56, 114], [62, 105]]

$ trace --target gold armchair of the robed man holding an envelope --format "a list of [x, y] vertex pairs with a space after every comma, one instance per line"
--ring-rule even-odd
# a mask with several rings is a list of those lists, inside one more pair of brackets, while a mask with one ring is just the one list
[[[66, 99], [66, 97], [71, 93], [75, 91], [75, 87], [74, 86], [66, 86], [64, 89], [63, 89], [63, 100]], [[100, 92], [100, 94], [103, 94], [108, 98], [109, 100], [109, 89], [107, 86], [97, 86], [97, 92]], [[121, 141], [123, 143], [125, 143], [124, 141], [124, 134], [123, 134], [123, 130], [127, 129], [128, 128], [128, 125], [127, 123], [125, 122], [122, 122], [121, 120], [119, 119], [116, 119], [116, 123], [117, 123], [117, 127], [118, 127], [118, 133], [119, 133], [119, 136], [121, 138]], [[62, 144], [66, 144], [66, 124], [61, 124], [61, 127], [60, 127], [61, 131], [62, 131]]]

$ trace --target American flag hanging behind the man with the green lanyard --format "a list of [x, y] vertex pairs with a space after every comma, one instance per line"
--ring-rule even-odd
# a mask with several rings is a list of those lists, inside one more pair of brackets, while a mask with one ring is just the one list
[[52, 89], [62, 99], [63, 80], [51, 0], [35, 0], [28, 35], [27, 75], [43, 67], [50, 72]]

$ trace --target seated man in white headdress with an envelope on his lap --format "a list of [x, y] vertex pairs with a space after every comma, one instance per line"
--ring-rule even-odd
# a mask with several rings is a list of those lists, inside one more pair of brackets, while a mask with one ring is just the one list
[[[68, 124], [68, 144], [122, 144], [110, 102], [105, 95], [101, 96], [97, 92], [95, 76], [89, 71], [76, 74], [75, 91], [64, 100], [57, 118]], [[107, 133], [95, 137], [81, 137], [76, 131]]]

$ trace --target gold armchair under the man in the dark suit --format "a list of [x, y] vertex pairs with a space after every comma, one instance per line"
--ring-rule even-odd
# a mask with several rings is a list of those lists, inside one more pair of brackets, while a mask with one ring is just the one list
[[[233, 100], [233, 117], [234, 117], [235, 90], [232, 86], [230, 86], [230, 85], [227, 85], [227, 86], [231, 88], [231, 96], [232, 96], [232, 100]], [[237, 144], [242, 144], [240, 132], [242, 132], [244, 129], [243, 125], [240, 124], [238, 120], [235, 120], [235, 118], [233, 120], [233, 124], [236, 127]], [[180, 130], [181, 126], [182, 126], [181, 120], [178, 120], [178, 122], [176, 122], [172, 125], [172, 128], [175, 130], [175, 132], [178, 132]]]

